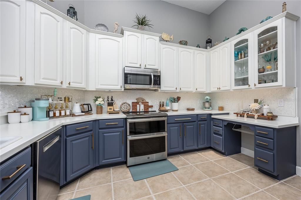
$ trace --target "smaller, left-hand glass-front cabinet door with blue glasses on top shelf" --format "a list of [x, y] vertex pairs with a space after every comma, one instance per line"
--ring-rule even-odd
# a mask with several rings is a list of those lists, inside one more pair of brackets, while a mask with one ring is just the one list
[[252, 88], [251, 38], [249, 33], [231, 42], [232, 89]]

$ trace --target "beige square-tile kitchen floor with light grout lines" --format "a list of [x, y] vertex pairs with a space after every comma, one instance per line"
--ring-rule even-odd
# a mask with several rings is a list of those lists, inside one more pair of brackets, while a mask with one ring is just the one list
[[94, 170], [61, 189], [58, 200], [91, 195], [103, 199], [301, 200], [301, 177], [275, 180], [254, 169], [244, 154], [204, 150], [168, 157], [178, 171], [133, 181], [126, 165]]

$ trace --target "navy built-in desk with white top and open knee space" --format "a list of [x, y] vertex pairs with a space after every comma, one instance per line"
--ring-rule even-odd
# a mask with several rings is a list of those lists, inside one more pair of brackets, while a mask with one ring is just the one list
[[[278, 180], [296, 174], [296, 126], [285, 120], [212, 116], [211, 146], [226, 156], [241, 152], [241, 132], [254, 135], [254, 165]], [[248, 128], [244, 128], [248, 127]]]

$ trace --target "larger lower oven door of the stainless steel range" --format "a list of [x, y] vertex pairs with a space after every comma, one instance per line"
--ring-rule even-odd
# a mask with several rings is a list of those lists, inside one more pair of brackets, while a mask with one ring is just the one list
[[167, 132], [127, 136], [127, 166], [167, 159]]

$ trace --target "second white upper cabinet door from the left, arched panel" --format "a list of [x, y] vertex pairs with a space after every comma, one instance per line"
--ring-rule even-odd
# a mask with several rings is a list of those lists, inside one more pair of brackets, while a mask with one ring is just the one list
[[63, 19], [36, 5], [35, 67], [36, 84], [63, 85]]

